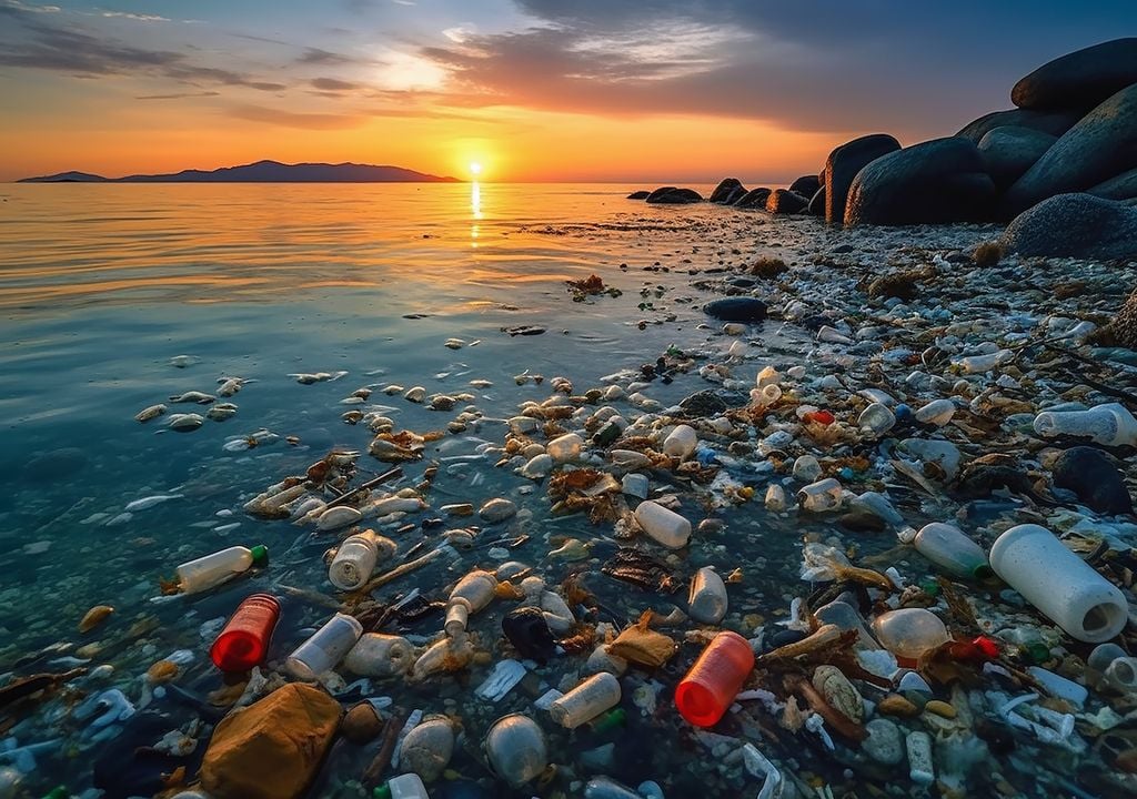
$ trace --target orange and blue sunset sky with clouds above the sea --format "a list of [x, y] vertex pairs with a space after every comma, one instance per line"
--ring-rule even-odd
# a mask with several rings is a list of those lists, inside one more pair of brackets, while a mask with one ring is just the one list
[[1137, 2], [0, 0], [0, 181], [262, 158], [787, 181], [949, 135]]

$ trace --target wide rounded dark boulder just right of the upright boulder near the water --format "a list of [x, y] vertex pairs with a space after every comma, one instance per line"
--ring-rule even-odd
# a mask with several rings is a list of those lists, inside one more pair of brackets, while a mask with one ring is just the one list
[[[919, 225], [990, 217], [995, 184], [969, 139], [933, 139], [881, 156], [857, 173], [846, 225]], [[828, 218], [828, 215], [827, 215]]]

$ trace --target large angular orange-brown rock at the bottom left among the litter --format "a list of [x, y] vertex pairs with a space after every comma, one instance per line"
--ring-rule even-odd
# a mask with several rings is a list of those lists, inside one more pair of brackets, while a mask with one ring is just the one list
[[202, 788], [215, 799], [298, 799], [319, 769], [340, 714], [338, 701], [301, 683], [233, 710], [209, 740]]

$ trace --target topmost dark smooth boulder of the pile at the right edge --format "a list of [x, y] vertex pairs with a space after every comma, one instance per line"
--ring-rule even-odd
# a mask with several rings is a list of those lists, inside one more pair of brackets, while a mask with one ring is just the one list
[[1055, 58], [1014, 84], [1011, 102], [1036, 110], [1087, 110], [1137, 83], [1137, 39], [1114, 39]]

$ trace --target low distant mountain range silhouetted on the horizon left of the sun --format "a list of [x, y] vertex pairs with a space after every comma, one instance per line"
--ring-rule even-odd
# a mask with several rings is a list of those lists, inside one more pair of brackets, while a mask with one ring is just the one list
[[455, 177], [439, 177], [398, 166], [372, 164], [281, 164], [257, 161], [205, 172], [183, 169], [167, 175], [127, 175], [103, 177], [89, 172], [60, 172], [57, 175], [25, 177], [17, 183], [457, 183]]

